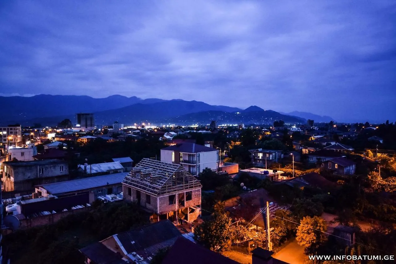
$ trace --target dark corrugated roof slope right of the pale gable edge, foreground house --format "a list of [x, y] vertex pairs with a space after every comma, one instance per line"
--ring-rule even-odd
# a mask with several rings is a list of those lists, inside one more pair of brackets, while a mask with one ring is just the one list
[[172, 246], [181, 233], [171, 221], [164, 220], [113, 237], [122, 245], [124, 253], [137, 253], [145, 259], [160, 249]]

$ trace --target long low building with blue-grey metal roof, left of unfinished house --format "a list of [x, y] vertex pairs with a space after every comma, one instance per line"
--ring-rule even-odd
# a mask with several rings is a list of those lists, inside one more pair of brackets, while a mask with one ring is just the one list
[[125, 176], [126, 173], [121, 172], [53, 184], [42, 184], [36, 186], [36, 193], [43, 197], [47, 197], [50, 194], [64, 197], [93, 192], [95, 198], [101, 195], [118, 194], [122, 192], [121, 182]]

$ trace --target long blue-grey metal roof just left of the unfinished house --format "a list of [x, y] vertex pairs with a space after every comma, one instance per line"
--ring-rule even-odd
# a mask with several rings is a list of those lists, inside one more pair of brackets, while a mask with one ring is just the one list
[[95, 176], [89, 178], [83, 178], [78, 180], [71, 180], [66, 182], [55, 182], [52, 184], [39, 185], [46, 189], [49, 193], [56, 195], [59, 193], [69, 193], [72, 191], [81, 191], [91, 188], [97, 188], [101, 186], [107, 186], [112, 184], [120, 184], [126, 176], [126, 172], [113, 173], [102, 176]]

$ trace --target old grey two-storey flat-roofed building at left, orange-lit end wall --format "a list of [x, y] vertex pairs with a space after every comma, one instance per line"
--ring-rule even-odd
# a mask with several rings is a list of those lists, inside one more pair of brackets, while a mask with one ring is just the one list
[[69, 180], [69, 165], [66, 161], [48, 159], [6, 161], [3, 164], [4, 191], [29, 193], [38, 184]]

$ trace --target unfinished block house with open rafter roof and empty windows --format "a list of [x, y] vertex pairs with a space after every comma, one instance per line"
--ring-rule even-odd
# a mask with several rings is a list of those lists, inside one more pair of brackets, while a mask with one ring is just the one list
[[200, 182], [180, 164], [142, 159], [122, 181], [124, 199], [153, 213], [153, 221], [192, 222], [201, 214]]

